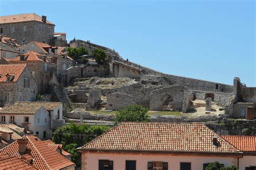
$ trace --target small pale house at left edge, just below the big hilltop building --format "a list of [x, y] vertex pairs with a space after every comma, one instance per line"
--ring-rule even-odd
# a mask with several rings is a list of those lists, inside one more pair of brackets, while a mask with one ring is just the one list
[[12, 59], [19, 55], [16, 39], [0, 35], [0, 59]]

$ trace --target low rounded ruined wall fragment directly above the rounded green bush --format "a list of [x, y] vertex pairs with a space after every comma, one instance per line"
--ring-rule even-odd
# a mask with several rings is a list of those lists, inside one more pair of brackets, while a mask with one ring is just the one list
[[107, 96], [107, 110], [124, 109], [129, 105], [136, 104], [136, 100], [129, 94], [113, 93]]

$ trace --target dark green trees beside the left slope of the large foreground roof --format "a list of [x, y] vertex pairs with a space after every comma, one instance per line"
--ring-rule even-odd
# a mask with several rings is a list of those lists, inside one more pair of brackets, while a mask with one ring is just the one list
[[71, 160], [79, 166], [80, 153], [76, 148], [83, 146], [109, 129], [109, 126], [104, 125], [89, 126], [70, 123], [57, 129], [53, 133], [52, 141], [56, 144], [63, 144], [64, 150], [72, 154]]

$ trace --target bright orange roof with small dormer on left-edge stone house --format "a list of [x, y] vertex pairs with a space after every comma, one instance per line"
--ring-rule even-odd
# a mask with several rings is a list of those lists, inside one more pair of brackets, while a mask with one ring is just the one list
[[25, 69], [26, 65], [0, 65], [0, 82], [7, 81], [7, 74], [14, 74], [14, 79], [12, 82], [16, 82], [21, 76], [23, 70]]

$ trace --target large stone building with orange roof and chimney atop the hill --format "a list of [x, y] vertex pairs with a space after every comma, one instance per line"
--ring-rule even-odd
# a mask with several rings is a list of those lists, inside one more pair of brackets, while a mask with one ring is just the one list
[[46, 16], [35, 13], [0, 17], [0, 34], [14, 38], [18, 44], [26, 45], [31, 41], [50, 43], [54, 38], [55, 25]]

